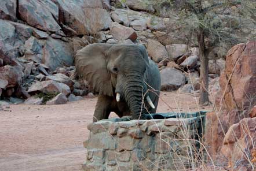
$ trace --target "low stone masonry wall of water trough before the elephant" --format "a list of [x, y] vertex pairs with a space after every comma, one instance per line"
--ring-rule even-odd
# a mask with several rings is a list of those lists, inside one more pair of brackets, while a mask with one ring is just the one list
[[[194, 113], [195, 114], [195, 113]], [[203, 115], [122, 121], [88, 126], [85, 170], [184, 170], [199, 161]], [[196, 157], [197, 156], [197, 157]]]

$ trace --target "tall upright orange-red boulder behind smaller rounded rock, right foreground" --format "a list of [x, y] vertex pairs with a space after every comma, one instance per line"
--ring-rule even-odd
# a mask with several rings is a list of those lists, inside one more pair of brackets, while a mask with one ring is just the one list
[[217, 111], [206, 115], [206, 146], [210, 147], [209, 153], [213, 158], [220, 153], [225, 143], [224, 136], [231, 129], [229, 127], [250, 117], [248, 111], [256, 104], [253, 98], [256, 90], [255, 49], [256, 42], [241, 43], [233, 46], [226, 55], [220, 91], [215, 96]]

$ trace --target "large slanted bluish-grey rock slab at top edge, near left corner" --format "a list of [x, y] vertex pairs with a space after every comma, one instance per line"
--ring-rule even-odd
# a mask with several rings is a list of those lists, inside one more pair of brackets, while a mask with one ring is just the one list
[[50, 0], [19, 1], [19, 16], [32, 27], [44, 31], [56, 32], [61, 29], [58, 25], [58, 7]]

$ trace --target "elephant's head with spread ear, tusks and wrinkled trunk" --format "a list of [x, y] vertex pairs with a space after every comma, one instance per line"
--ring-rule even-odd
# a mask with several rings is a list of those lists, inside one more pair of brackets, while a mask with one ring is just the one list
[[94, 43], [75, 55], [76, 73], [86, 79], [93, 90], [125, 101], [131, 115], [138, 119], [146, 113], [142, 101], [154, 108], [145, 83], [149, 65], [148, 54], [142, 45], [113, 45]]

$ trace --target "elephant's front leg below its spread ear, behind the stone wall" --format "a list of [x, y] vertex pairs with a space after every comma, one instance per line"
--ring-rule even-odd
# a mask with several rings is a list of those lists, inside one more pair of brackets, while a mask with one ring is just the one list
[[107, 119], [111, 112], [111, 97], [105, 95], [99, 95], [96, 108], [93, 114], [93, 122]]

